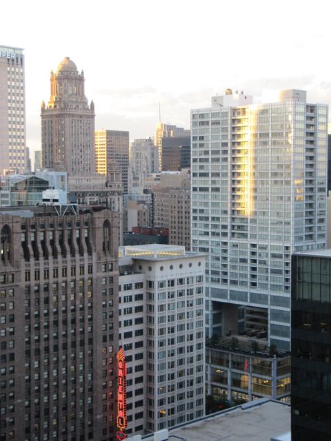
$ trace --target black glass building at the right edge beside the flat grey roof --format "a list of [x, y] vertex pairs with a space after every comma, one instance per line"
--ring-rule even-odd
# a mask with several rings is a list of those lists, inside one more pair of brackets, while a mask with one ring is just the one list
[[331, 440], [331, 250], [292, 256], [292, 441]]

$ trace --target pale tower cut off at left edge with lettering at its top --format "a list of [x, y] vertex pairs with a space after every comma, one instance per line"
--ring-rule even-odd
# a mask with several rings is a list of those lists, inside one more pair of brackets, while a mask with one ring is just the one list
[[23, 49], [0, 45], [0, 174], [26, 171]]

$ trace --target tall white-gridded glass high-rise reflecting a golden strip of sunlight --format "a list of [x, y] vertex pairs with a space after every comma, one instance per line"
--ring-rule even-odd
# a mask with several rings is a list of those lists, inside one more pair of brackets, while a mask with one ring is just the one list
[[290, 256], [325, 248], [328, 106], [300, 90], [259, 105], [240, 95], [192, 110], [192, 251], [208, 254], [210, 335], [268, 331], [288, 350]]

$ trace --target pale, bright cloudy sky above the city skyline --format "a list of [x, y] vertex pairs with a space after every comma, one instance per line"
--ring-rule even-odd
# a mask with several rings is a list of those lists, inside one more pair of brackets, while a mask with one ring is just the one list
[[[24, 49], [27, 145], [41, 149], [40, 107], [64, 57], [84, 71], [96, 129], [154, 136], [189, 128], [190, 109], [226, 88], [255, 102], [281, 89], [331, 104], [328, 0], [5, 0], [0, 45]], [[10, 6], [10, 8], [9, 8]], [[4, 13], [8, 11], [8, 13]]]

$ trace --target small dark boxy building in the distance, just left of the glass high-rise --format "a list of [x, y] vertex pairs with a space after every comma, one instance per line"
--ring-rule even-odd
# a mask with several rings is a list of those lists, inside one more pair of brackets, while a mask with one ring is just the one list
[[177, 172], [191, 165], [190, 136], [162, 138], [162, 171]]

